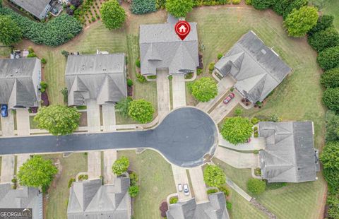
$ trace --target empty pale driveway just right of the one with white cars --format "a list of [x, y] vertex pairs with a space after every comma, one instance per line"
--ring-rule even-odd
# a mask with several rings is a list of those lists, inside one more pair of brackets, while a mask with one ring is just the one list
[[201, 167], [189, 168], [189, 177], [191, 177], [192, 187], [194, 189], [194, 196], [197, 203], [208, 202], [208, 194], [206, 184], [203, 180], [203, 170]]

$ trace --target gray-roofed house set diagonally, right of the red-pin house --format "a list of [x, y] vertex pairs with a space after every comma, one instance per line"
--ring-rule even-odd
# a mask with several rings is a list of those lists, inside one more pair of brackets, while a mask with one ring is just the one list
[[234, 88], [251, 102], [263, 100], [290, 73], [291, 68], [277, 53], [249, 31], [216, 64], [220, 76], [237, 81]]

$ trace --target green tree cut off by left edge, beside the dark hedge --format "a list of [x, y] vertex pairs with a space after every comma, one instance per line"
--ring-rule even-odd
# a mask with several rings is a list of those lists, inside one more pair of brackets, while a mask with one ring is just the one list
[[23, 34], [16, 22], [8, 16], [0, 16], [0, 42], [11, 45], [21, 40]]

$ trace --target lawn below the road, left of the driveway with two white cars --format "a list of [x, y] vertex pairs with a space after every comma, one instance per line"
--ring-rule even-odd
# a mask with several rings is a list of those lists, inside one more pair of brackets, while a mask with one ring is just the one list
[[153, 150], [141, 154], [134, 150], [119, 151], [118, 157], [122, 155], [129, 158], [130, 169], [139, 177], [140, 193], [133, 201], [134, 218], [160, 218], [160, 203], [176, 192], [171, 166]]

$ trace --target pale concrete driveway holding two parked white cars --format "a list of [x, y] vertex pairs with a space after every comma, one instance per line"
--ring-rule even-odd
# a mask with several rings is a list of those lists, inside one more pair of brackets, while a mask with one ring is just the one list
[[179, 201], [191, 199], [191, 188], [189, 188], [189, 196], [185, 196], [184, 191], [178, 190], [178, 184], [182, 184], [182, 187], [184, 187], [184, 184], [189, 186], [189, 177], [187, 177], [186, 169], [183, 167], [178, 167], [177, 165], [172, 165], [172, 172]]

